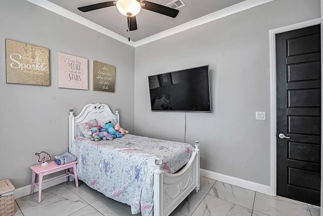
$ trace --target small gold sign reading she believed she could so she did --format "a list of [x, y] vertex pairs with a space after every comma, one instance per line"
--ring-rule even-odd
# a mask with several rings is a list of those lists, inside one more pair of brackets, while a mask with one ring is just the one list
[[93, 61], [93, 90], [115, 92], [116, 67]]

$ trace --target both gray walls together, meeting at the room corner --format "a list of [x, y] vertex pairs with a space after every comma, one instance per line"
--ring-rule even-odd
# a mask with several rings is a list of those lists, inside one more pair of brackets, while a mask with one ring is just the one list
[[[67, 150], [68, 109], [101, 102], [120, 108], [131, 133], [199, 140], [203, 169], [269, 185], [268, 31], [318, 17], [319, 0], [275, 0], [134, 49], [24, 0], [2, 1], [0, 179], [30, 185], [35, 152]], [[6, 83], [6, 38], [49, 48], [49, 87]], [[116, 66], [115, 93], [58, 88], [58, 52], [89, 60], [89, 89], [93, 60]], [[150, 111], [148, 75], [206, 64], [212, 113]], [[266, 121], [256, 121], [256, 111], [265, 111]]]

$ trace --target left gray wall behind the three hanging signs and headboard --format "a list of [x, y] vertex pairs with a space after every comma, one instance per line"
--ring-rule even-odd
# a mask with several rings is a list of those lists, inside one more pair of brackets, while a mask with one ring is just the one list
[[[0, 179], [30, 185], [35, 152], [52, 156], [68, 146], [68, 110], [87, 103], [120, 109], [121, 126], [134, 132], [134, 48], [24, 0], [0, 6]], [[50, 86], [6, 83], [5, 39], [49, 48]], [[88, 59], [89, 90], [58, 88], [58, 52]], [[93, 61], [116, 67], [115, 93], [93, 91]]]

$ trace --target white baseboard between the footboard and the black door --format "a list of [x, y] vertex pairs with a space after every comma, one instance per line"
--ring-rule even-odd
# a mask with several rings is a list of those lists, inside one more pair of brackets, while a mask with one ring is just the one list
[[247, 180], [223, 175], [220, 173], [215, 173], [215, 172], [204, 170], [204, 169], [200, 169], [200, 174], [201, 174], [201, 176], [209, 178], [209, 179], [217, 180], [220, 182], [224, 182], [227, 184], [235, 185], [238, 187], [246, 188], [248, 190], [252, 190], [252, 191], [256, 191], [259, 193], [264, 193], [264, 194], [273, 196], [271, 186], [268, 186], [268, 185], [262, 185], [259, 183], [250, 182]]

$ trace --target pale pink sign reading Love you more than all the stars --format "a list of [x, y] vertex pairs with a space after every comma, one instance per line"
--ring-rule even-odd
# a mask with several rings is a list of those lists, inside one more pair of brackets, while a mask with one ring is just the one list
[[59, 87], [88, 89], [87, 59], [59, 52]]

